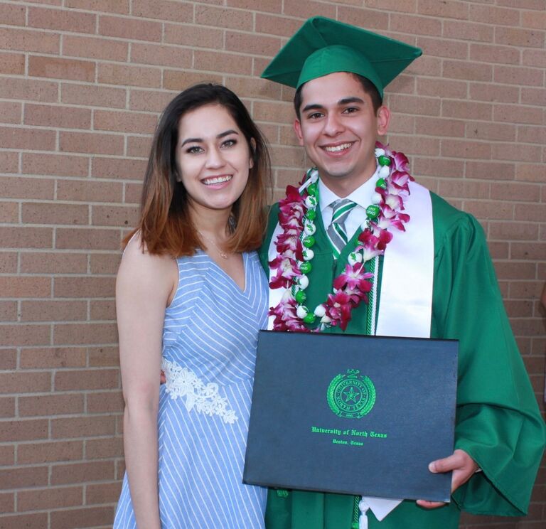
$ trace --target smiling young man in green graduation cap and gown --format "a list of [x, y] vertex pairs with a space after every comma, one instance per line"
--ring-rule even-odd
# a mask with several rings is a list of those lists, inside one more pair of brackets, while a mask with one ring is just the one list
[[[528, 508], [544, 423], [483, 231], [412, 182], [405, 156], [375, 148], [383, 87], [420, 54], [316, 17], [270, 63], [262, 77], [297, 90], [294, 129], [316, 171], [272, 209], [261, 258], [270, 328], [459, 340], [455, 450], [429, 466], [453, 471], [452, 501], [272, 490], [268, 529], [455, 529], [461, 510]], [[355, 458], [346, 471], [366, 469]]]

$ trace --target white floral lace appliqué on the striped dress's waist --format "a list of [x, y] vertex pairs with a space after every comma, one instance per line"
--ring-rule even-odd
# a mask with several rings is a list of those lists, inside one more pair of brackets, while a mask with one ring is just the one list
[[233, 424], [239, 417], [228, 407], [228, 399], [220, 397], [218, 384], [203, 383], [196, 373], [188, 368], [183, 368], [176, 362], [161, 360], [161, 369], [164, 370], [166, 384], [165, 390], [173, 399], [186, 397], [186, 410], [194, 407], [200, 413], [206, 415], [219, 415], [224, 422]]

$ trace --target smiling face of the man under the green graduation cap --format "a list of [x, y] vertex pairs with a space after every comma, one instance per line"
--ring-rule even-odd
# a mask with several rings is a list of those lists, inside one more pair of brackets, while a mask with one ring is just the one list
[[387, 107], [375, 114], [357, 78], [336, 72], [306, 82], [294, 129], [322, 181], [343, 197], [373, 175], [375, 139], [387, 132], [389, 118]]

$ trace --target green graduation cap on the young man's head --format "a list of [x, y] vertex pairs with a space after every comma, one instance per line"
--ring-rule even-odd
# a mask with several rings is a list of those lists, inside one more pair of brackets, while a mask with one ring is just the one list
[[277, 53], [262, 78], [299, 88], [328, 73], [358, 73], [373, 82], [383, 97], [383, 88], [421, 54], [409, 44], [314, 16]]

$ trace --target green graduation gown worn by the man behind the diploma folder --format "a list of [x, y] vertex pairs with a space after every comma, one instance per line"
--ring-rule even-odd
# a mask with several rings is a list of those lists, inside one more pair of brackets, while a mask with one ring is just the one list
[[[455, 448], [466, 451], [483, 471], [474, 474], [455, 491], [451, 503], [441, 508], [427, 510], [414, 501], [403, 501], [382, 522], [368, 511], [370, 529], [456, 529], [461, 510], [525, 515], [545, 444], [545, 425], [505, 314], [483, 230], [468, 213], [453, 208], [434, 193], [431, 198], [431, 338], [459, 340]], [[267, 251], [278, 211], [275, 205], [260, 250], [266, 272]], [[310, 307], [326, 300], [332, 279], [345, 267], [355, 240], [353, 237], [334, 263], [321, 215], [316, 218], [315, 237], [313, 269], [306, 289], [306, 304]], [[403, 281], [404, 277], [400, 277], [401, 284]], [[367, 311], [366, 304], [353, 310], [347, 333], [365, 333]], [[334, 327], [329, 332], [342, 331]], [[366, 469], [355, 458], [351, 471]], [[284, 497], [270, 490], [266, 527], [350, 529], [353, 507], [353, 496], [290, 491]]]

